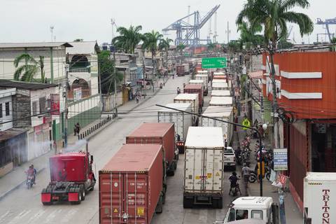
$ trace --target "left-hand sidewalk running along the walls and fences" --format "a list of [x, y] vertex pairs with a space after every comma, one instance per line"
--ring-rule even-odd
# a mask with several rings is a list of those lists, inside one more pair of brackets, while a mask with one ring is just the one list
[[[160, 79], [162, 81], [162, 79]], [[167, 82], [167, 80], [165, 80]], [[156, 83], [158, 84], [158, 83]], [[163, 87], [165, 89], [165, 87]], [[151, 97], [155, 96], [155, 94], [158, 94], [160, 90], [160, 87], [158, 85], [155, 86], [154, 92], [153, 90], [146, 90], [146, 98], [144, 99], [141, 97], [139, 104], [135, 100], [132, 100], [130, 102], [127, 102], [126, 104], [119, 106], [118, 111], [123, 111], [123, 113], [129, 113], [130, 111], [136, 109], [138, 106], [141, 106], [141, 104], [144, 104], [148, 99], [151, 99]], [[106, 118], [109, 116], [109, 114], [102, 113], [102, 118]], [[102, 119], [101, 118], [101, 119]], [[87, 130], [92, 127], [92, 125], [95, 125], [96, 123], [99, 123], [101, 119], [98, 119], [89, 125], [82, 127], [82, 130]], [[116, 121], [118, 119], [115, 118], [111, 122], [107, 123], [106, 125], [102, 126], [99, 130], [96, 130], [95, 132], [92, 132], [90, 135], [86, 137], [86, 139], [90, 139], [94, 137], [94, 135], [99, 134], [104, 128], [108, 127], [111, 123]], [[72, 133], [72, 132], [71, 132]], [[74, 136], [73, 134], [69, 134], [68, 136], [68, 148], [74, 147], [76, 148], [85, 148], [85, 140], [78, 141], [78, 136]], [[64, 148], [59, 148], [57, 146], [59, 151], [63, 151]], [[6, 195], [10, 194], [13, 190], [19, 188], [23, 183], [25, 183], [26, 180], [26, 174], [25, 171], [29, 168], [31, 164], [34, 164], [35, 169], [37, 170], [37, 173], [43, 172], [44, 169], [48, 169], [49, 167], [49, 158], [50, 156], [54, 155], [55, 152], [53, 150], [49, 151], [48, 153], [45, 153], [44, 155], [39, 156], [38, 158], [34, 158], [33, 160], [30, 160], [29, 162], [26, 162], [19, 167], [15, 167], [11, 172], [6, 174], [5, 176], [0, 178], [0, 200], [3, 199], [3, 197], [6, 197]]]

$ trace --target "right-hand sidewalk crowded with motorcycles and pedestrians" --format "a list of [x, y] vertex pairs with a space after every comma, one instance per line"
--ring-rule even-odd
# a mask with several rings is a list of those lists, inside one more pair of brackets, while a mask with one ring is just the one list
[[[243, 119], [243, 116], [240, 116], [238, 118], [238, 123], [241, 124], [241, 121]], [[241, 127], [237, 127], [237, 132], [234, 132], [234, 141], [233, 141], [233, 147], [239, 146], [239, 141], [242, 141], [245, 137], [244, 130], [241, 130]], [[251, 140], [251, 155], [250, 155], [250, 161], [251, 166], [250, 168], [253, 169], [255, 167], [256, 161], [254, 159], [255, 155], [255, 143], [258, 139], [252, 139]], [[267, 140], [263, 140], [262, 144], [264, 146], [268, 145]], [[240, 168], [237, 169], [237, 173], [239, 174], [241, 170]], [[244, 190], [242, 190], [244, 194]], [[255, 183], [248, 183], [248, 195], [250, 196], [259, 196], [260, 195], [260, 183], [258, 181], [255, 181]], [[279, 204], [279, 194], [276, 187], [272, 186], [272, 183], [270, 183], [266, 178], [262, 180], [262, 196], [263, 197], [272, 197], [273, 201]], [[295, 204], [292, 195], [290, 193], [285, 193], [285, 209], [286, 209], [286, 221], [290, 224], [301, 224], [303, 222], [302, 214], [300, 210], [297, 208], [297, 205]]]

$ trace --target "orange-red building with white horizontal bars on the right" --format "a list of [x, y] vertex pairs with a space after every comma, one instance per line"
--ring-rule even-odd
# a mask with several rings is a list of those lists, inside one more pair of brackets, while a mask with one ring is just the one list
[[[268, 64], [263, 55], [262, 89], [272, 101]], [[279, 119], [279, 144], [288, 148], [290, 191], [302, 210], [306, 173], [336, 172], [336, 52], [281, 52], [274, 64], [279, 107], [295, 118]]]

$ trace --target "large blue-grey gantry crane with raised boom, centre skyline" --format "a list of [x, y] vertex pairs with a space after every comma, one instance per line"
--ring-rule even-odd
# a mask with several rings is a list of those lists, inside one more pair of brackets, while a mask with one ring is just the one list
[[[218, 10], [219, 6], [212, 8], [207, 15], [203, 18], [200, 16], [200, 12], [197, 10], [194, 13], [191, 13], [176, 22], [173, 22], [171, 25], [162, 29], [163, 32], [167, 31], [176, 31], [175, 45], [183, 43], [184, 45], [200, 45], [200, 41], [208, 41], [207, 39], [200, 39], [200, 29], [204, 24], [211, 18], [212, 15]], [[193, 18], [194, 24], [191, 22], [186, 22], [186, 19]]]

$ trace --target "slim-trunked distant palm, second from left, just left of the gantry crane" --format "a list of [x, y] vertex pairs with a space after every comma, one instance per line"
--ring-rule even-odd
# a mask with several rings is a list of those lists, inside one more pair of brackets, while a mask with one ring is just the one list
[[162, 39], [163, 35], [158, 31], [152, 30], [149, 33], [144, 34], [142, 48], [151, 52], [152, 63], [153, 63], [153, 73], [156, 73], [156, 63], [155, 56], [158, 51], [158, 42]]

